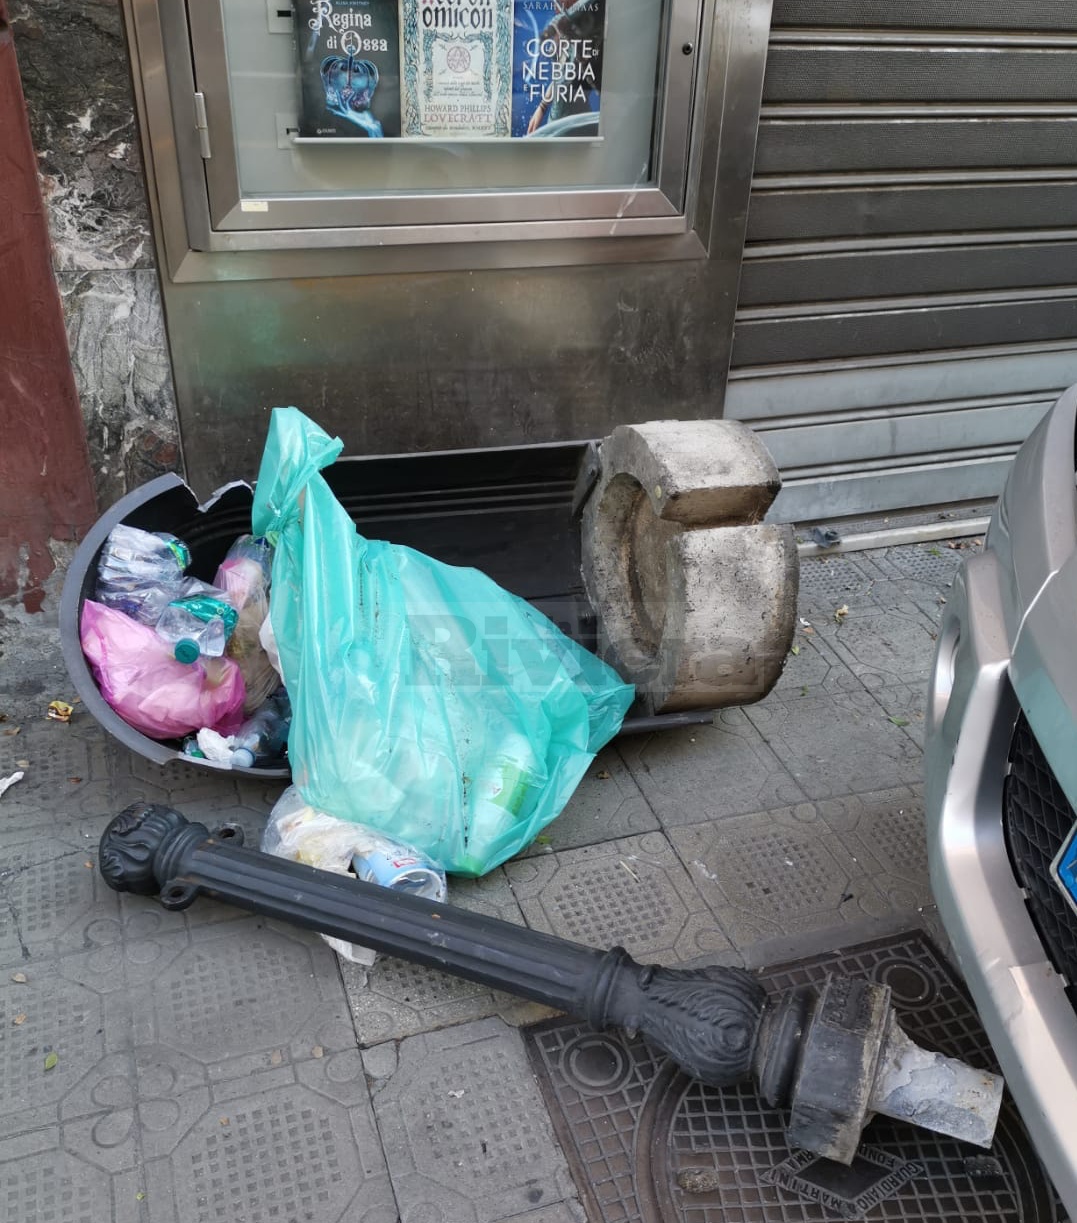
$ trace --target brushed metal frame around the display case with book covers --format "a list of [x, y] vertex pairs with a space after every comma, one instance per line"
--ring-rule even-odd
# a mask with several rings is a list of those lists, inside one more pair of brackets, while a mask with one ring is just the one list
[[[185, 0], [123, 0], [161, 268], [176, 283], [688, 260], [719, 249], [740, 260], [770, 0], [674, 0], [666, 54], [691, 54], [696, 71], [680, 73], [689, 87], [659, 108], [654, 186], [367, 199], [374, 223], [350, 225], [334, 221], [356, 209], [353, 198], [274, 199], [243, 213], [227, 89], [199, 93], [196, 73], [199, 46], [205, 54], [219, 38], [210, 65], [224, 54], [220, 2], [199, 0], [192, 26]], [[665, 76], [678, 73], [666, 65]], [[737, 121], [726, 125], [731, 111]], [[209, 160], [207, 124], [220, 131]], [[214, 161], [216, 209], [205, 172]], [[326, 224], [304, 224], [300, 204], [312, 203], [325, 205]], [[433, 209], [439, 220], [424, 221]], [[542, 219], [551, 212], [557, 220]]]

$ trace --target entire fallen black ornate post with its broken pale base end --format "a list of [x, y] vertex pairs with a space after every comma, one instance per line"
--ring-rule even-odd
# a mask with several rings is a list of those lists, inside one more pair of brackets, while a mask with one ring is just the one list
[[159, 894], [166, 909], [207, 895], [361, 943], [584, 1019], [639, 1032], [685, 1071], [722, 1087], [754, 1079], [790, 1113], [791, 1146], [850, 1163], [875, 1113], [989, 1146], [1001, 1103], [996, 1075], [914, 1044], [890, 989], [828, 976], [768, 997], [742, 969], [637, 964], [623, 948], [570, 943], [242, 848], [242, 830], [210, 834], [178, 811], [127, 807], [105, 829], [100, 870], [117, 892]]

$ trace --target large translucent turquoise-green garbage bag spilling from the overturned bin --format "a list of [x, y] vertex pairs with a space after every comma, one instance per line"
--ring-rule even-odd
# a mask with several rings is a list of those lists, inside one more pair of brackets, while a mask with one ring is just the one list
[[254, 490], [292, 778], [312, 807], [482, 874], [561, 811], [633, 689], [477, 570], [363, 538], [319, 475], [341, 449], [276, 408]]

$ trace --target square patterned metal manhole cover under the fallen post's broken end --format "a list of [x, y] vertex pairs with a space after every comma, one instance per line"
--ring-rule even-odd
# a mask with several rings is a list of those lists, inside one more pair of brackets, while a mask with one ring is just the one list
[[[971, 1003], [921, 933], [780, 965], [768, 988], [870, 976], [894, 991], [910, 1035], [994, 1065]], [[852, 1167], [795, 1151], [784, 1117], [751, 1086], [688, 1079], [641, 1040], [553, 1020], [528, 1049], [592, 1223], [1053, 1223], [1054, 1196], [1009, 1099], [982, 1151], [878, 1118]]]

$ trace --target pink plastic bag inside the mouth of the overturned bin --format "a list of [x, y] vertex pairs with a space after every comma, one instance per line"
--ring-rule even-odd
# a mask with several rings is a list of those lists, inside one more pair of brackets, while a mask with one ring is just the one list
[[101, 696], [120, 717], [154, 739], [209, 726], [232, 734], [243, 717], [243, 676], [230, 658], [177, 663], [149, 625], [87, 599], [82, 652]]

